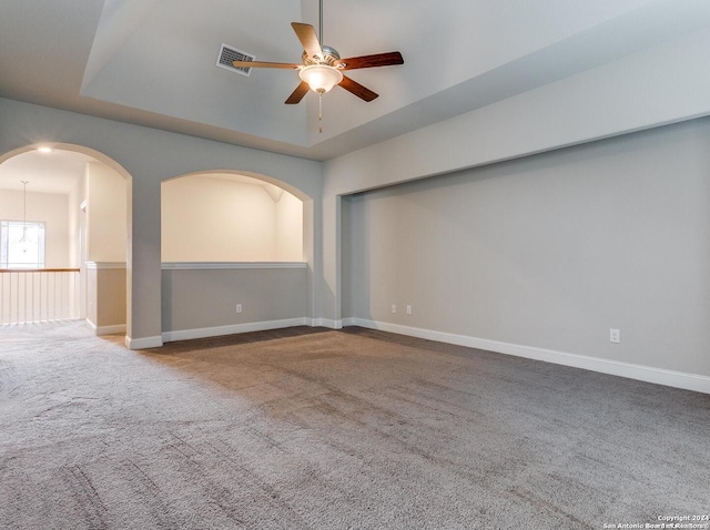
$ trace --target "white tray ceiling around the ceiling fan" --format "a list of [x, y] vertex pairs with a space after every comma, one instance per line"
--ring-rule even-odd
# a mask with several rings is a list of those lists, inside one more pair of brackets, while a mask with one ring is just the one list
[[317, 18], [317, 0], [0, 0], [0, 96], [327, 160], [710, 26], [710, 2], [324, 0], [326, 44], [405, 64], [351, 71], [381, 96], [335, 88], [322, 134], [315, 94], [283, 103], [295, 72], [215, 65], [222, 43], [300, 62], [290, 23]]

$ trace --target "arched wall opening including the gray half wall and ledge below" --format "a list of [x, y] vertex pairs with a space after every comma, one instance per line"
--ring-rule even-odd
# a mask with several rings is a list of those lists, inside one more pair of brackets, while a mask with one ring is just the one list
[[[313, 218], [307, 194], [268, 175], [205, 170], [163, 180], [162, 340], [311, 324]], [[297, 248], [283, 253], [295, 237]]]

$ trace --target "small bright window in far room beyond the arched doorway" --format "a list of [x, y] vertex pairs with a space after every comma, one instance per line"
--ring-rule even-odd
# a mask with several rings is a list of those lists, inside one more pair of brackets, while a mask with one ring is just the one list
[[44, 223], [0, 222], [0, 267], [44, 268]]

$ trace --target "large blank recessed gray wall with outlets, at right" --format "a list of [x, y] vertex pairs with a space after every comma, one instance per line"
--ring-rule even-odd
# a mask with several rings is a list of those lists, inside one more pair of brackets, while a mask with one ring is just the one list
[[342, 214], [344, 318], [710, 375], [709, 119], [345, 196]]

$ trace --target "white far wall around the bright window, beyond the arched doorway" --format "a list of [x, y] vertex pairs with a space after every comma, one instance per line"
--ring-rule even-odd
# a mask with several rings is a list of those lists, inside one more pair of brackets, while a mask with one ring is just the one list
[[[0, 190], [0, 218], [22, 221], [21, 191]], [[72, 266], [69, 244], [69, 201], [67, 195], [27, 192], [27, 221], [47, 223], [44, 233], [44, 266]]]

